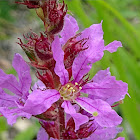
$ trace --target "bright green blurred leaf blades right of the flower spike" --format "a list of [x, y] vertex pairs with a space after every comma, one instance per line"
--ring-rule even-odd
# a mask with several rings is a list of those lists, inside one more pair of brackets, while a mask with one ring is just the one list
[[121, 114], [130, 123], [135, 138], [140, 139], [140, 27], [134, 22], [134, 19], [140, 21], [138, 12], [140, 1], [67, 0], [66, 2], [68, 9], [76, 15], [83, 27], [103, 20], [106, 44], [113, 40], [122, 42], [123, 48], [119, 48], [113, 54], [106, 52], [103, 59], [93, 65], [90, 74], [93, 76], [98, 69], [110, 67], [112, 75], [128, 83], [131, 98], [126, 97], [124, 104], [120, 105]]

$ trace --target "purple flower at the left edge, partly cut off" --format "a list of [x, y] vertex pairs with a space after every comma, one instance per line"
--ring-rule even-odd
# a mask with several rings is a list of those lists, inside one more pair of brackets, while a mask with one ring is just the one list
[[[22, 111], [31, 85], [30, 68], [19, 54], [15, 54], [13, 67], [18, 73], [19, 80], [12, 74], [5, 74], [0, 70], [0, 113], [7, 118], [8, 124], [16, 122], [17, 117], [30, 118], [31, 114]], [[11, 91], [6, 94], [4, 89]]]

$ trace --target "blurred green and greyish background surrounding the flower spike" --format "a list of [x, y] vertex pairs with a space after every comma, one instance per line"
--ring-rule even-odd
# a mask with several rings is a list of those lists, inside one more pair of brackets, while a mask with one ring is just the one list
[[[103, 20], [105, 43], [113, 40], [122, 42], [123, 48], [113, 54], [106, 52], [103, 59], [93, 65], [90, 73], [93, 76], [99, 69], [110, 67], [112, 75], [128, 83], [131, 98], [126, 96], [124, 103], [116, 108], [124, 118], [124, 131], [120, 136], [124, 136], [126, 140], [140, 140], [140, 0], [65, 2], [69, 13], [78, 20], [80, 30]], [[43, 24], [35, 11], [16, 5], [13, 0], [0, 0], [0, 68], [7, 73], [14, 73], [10, 65], [14, 53], [23, 53], [15, 43], [16, 38], [28, 33], [29, 29], [43, 31]], [[6, 120], [0, 117], [0, 140], [35, 139], [39, 124], [35, 120], [25, 124], [28, 127], [19, 130], [19, 126], [9, 127]], [[11, 131], [14, 133], [12, 136]]]

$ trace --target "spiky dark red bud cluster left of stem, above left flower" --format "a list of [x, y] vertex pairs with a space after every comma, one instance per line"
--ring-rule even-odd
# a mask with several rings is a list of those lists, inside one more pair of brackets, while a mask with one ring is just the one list
[[42, 70], [52, 70], [55, 65], [55, 60], [53, 59], [48, 38], [42, 33], [39, 37], [34, 32], [31, 32], [31, 35], [28, 35], [27, 37], [24, 36], [24, 38], [27, 40], [27, 44], [24, 44], [20, 38], [18, 38], [20, 40], [20, 43], [18, 44], [27, 54], [31, 61], [31, 65]]

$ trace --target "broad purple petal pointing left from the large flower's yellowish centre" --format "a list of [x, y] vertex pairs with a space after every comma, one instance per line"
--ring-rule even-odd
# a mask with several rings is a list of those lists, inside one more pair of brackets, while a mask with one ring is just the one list
[[57, 90], [35, 90], [28, 96], [25, 106], [21, 108], [32, 115], [38, 115], [49, 109], [59, 98], [60, 94]]

